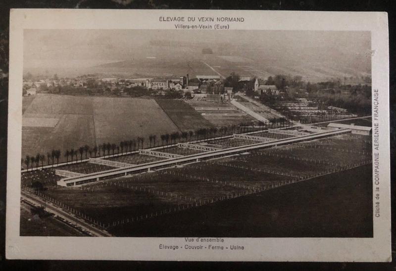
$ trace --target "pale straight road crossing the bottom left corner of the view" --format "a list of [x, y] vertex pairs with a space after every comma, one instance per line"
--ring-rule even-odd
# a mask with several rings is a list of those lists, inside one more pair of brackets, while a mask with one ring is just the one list
[[[21, 197], [29, 202], [32, 202], [35, 205], [38, 205], [38, 206], [45, 205], [46, 211], [48, 211], [49, 213], [55, 214], [56, 216], [66, 220], [72, 224], [76, 223], [75, 215], [72, 215], [70, 213], [63, 211], [61, 208], [52, 205], [52, 203], [50, 203], [49, 201], [44, 201], [42, 198], [40, 198], [36, 195], [30, 194], [23, 190], [21, 190]], [[84, 228], [85, 230], [87, 230], [88, 232], [90, 232], [94, 236], [104, 236], [104, 237], [111, 236], [110, 233], [103, 231], [97, 227], [94, 227], [91, 224], [86, 223], [81, 218], [78, 220], [78, 225], [80, 227]]]

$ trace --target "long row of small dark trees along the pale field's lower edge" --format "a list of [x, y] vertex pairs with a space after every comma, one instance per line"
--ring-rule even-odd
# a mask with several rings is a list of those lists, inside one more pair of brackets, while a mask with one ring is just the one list
[[[230, 125], [230, 126], [223, 126], [220, 128], [215, 127], [207, 127], [207, 128], [200, 128], [196, 131], [183, 131], [183, 132], [174, 132], [170, 134], [163, 134], [160, 135], [160, 146], [168, 146], [169, 144], [176, 144], [178, 142], [191, 142], [192, 140], [206, 140], [209, 138], [214, 138], [217, 136], [225, 136], [225, 135], [232, 135], [235, 133], [244, 133], [248, 131], [248, 127], [252, 126], [249, 123], [241, 123], [239, 126], [237, 125]], [[263, 126], [263, 124], [262, 124]], [[159, 139], [158, 138], [158, 139]], [[156, 145], [159, 146], [159, 140], [157, 139], [156, 135], [149, 135], [148, 142], [146, 147], [155, 147]], [[115, 143], [102, 143], [94, 147], [90, 147], [89, 145], [83, 145], [79, 148], [71, 148], [67, 149], [64, 152], [64, 157], [66, 158], [66, 163], [73, 162], [73, 161], [82, 161], [84, 158], [87, 159], [88, 157], [100, 157], [100, 156], [110, 156], [114, 154], [124, 154], [128, 152], [132, 152], [138, 149], [143, 149], [145, 147], [145, 138], [138, 136], [131, 140], [123, 140], [119, 142], [119, 144]], [[59, 158], [61, 157], [60, 150], [52, 150], [51, 152], [47, 153], [47, 156], [44, 154], [38, 153], [36, 156], [29, 156], [26, 155], [25, 159], [22, 159], [22, 163], [26, 165], [26, 168], [29, 170], [33, 170], [34, 167], [39, 168], [40, 165], [44, 168], [44, 162], [46, 161], [47, 157], [47, 165], [52, 164], [59, 164]]]

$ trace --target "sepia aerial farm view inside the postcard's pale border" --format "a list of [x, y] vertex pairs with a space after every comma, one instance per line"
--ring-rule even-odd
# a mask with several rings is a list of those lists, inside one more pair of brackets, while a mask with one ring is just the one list
[[23, 30], [20, 236], [372, 238], [371, 57], [370, 31]]

